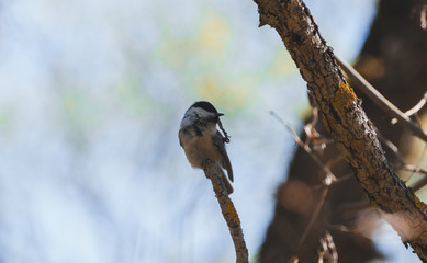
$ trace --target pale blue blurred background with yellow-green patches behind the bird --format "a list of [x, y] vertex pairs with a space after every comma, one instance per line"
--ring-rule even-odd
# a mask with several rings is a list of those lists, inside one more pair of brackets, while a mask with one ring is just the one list
[[[306, 4], [352, 62], [375, 1]], [[211, 183], [178, 141], [198, 100], [225, 113], [255, 262], [296, 147], [269, 112], [300, 130], [310, 111], [258, 19], [250, 0], [1, 1], [0, 262], [233, 262]], [[378, 240], [411, 255], [387, 227]]]

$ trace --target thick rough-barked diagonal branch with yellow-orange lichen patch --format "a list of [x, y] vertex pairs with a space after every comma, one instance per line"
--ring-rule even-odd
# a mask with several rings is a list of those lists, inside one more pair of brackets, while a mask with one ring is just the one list
[[339, 70], [330, 47], [322, 38], [301, 0], [255, 0], [260, 26], [269, 24], [307, 82], [311, 98], [346, 161], [355, 171], [372, 206], [427, 262], [427, 216], [422, 203], [398, 179], [386, 160], [372, 123]]

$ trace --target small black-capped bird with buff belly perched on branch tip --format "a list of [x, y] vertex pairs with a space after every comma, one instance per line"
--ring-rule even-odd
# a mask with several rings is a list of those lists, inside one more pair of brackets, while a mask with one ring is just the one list
[[[187, 110], [181, 121], [178, 137], [192, 167], [203, 169], [207, 159], [215, 161], [227, 170], [228, 178], [233, 182], [232, 163], [225, 150], [225, 142], [228, 142], [229, 139], [220, 121], [223, 115], [210, 102], [195, 102]], [[217, 124], [224, 135], [216, 129]], [[233, 193], [233, 186], [224, 173], [223, 180], [228, 194]]]

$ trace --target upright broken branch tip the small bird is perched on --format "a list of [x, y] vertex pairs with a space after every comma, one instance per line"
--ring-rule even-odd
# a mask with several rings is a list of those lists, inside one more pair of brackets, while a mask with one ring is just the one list
[[217, 163], [206, 160], [203, 167], [204, 174], [212, 182], [215, 196], [220, 203], [221, 211], [227, 222], [229, 233], [236, 250], [236, 263], [248, 263], [248, 249], [246, 248], [244, 233], [240, 227], [240, 219], [238, 218], [236, 208], [232, 199], [228, 197], [227, 187], [223, 181], [223, 171]]

